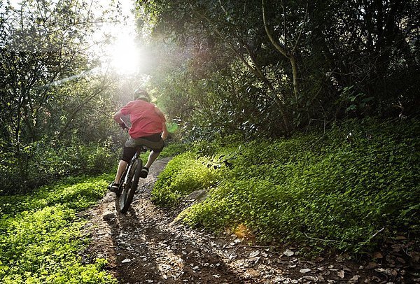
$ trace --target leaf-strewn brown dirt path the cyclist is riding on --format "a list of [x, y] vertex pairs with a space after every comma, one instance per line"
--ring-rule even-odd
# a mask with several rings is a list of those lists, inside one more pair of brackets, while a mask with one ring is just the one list
[[346, 255], [310, 262], [299, 259], [297, 248], [245, 246], [235, 235], [174, 224], [179, 212], [157, 208], [149, 198], [168, 161], [153, 164], [126, 215], [117, 213], [111, 192], [88, 212], [93, 241], [85, 255], [109, 260], [119, 283], [411, 283], [402, 259], [391, 267]]

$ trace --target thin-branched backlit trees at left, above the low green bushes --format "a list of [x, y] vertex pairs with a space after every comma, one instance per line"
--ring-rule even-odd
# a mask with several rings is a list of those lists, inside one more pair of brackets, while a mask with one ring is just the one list
[[103, 16], [92, 13], [93, 4], [27, 0], [15, 8], [1, 3], [0, 154], [18, 167], [18, 183], [29, 176], [32, 145], [69, 138], [83, 125], [77, 119], [81, 111], [112, 85], [109, 79], [92, 80], [92, 74], [85, 80], [97, 64], [89, 36]]

